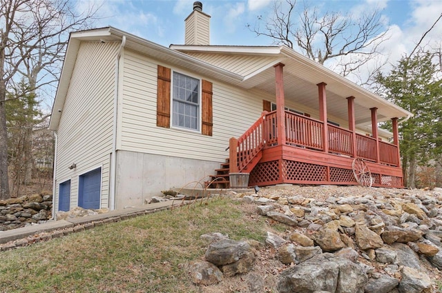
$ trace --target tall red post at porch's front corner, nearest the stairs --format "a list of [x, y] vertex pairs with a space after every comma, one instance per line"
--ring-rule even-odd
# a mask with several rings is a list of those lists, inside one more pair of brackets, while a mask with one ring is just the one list
[[284, 64], [278, 63], [275, 68], [275, 94], [276, 94], [276, 129], [278, 135], [278, 145], [285, 145], [285, 97], [284, 97], [284, 75], [282, 68]]

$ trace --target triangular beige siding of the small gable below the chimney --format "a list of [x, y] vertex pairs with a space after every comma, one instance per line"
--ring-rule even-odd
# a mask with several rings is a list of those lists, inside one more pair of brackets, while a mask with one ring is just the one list
[[187, 54], [212, 65], [218, 66], [219, 68], [240, 74], [244, 77], [266, 65], [273, 64], [276, 61], [275, 57], [205, 54], [198, 52], [189, 52]]

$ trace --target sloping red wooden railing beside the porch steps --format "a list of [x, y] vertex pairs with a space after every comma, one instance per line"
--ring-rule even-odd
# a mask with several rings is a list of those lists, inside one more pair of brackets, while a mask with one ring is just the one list
[[265, 122], [269, 112], [264, 111], [261, 117], [251, 127], [236, 139], [232, 137], [229, 141], [229, 172], [237, 173], [244, 170], [253, 158], [264, 148]]

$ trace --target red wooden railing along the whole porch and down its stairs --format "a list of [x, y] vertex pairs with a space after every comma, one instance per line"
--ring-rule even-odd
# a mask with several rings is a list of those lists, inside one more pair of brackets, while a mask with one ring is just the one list
[[[240, 172], [246, 168], [262, 148], [278, 144], [276, 125], [278, 125], [276, 111], [263, 112], [260, 119], [240, 138], [231, 139], [229, 145], [231, 172]], [[324, 151], [322, 121], [285, 111], [285, 126], [287, 145]], [[353, 132], [330, 123], [327, 126], [329, 152], [354, 156]], [[356, 157], [398, 166], [398, 147], [383, 141], [379, 141], [378, 145], [379, 160], [376, 158], [376, 139], [356, 134]]]

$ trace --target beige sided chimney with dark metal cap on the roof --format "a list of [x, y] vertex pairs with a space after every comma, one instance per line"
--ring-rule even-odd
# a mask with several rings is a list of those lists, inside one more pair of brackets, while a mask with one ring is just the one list
[[186, 24], [185, 45], [210, 45], [210, 15], [202, 12], [202, 3], [193, 2], [193, 11], [184, 20]]

